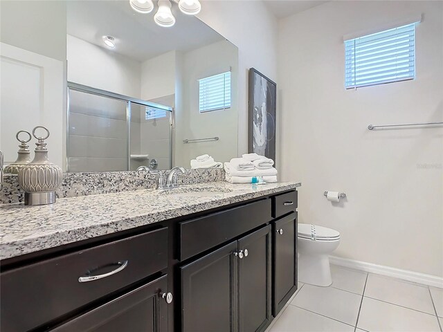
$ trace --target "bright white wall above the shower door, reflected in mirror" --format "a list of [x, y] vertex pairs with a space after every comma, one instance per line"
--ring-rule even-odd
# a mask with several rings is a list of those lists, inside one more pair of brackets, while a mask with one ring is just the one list
[[71, 35], [66, 44], [69, 81], [140, 98], [140, 62]]

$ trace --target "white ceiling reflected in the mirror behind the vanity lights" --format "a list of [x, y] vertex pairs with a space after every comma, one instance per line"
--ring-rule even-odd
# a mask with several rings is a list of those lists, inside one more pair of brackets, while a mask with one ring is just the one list
[[154, 11], [139, 14], [129, 1], [67, 1], [67, 33], [106, 48], [102, 37], [116, 39], [117, 53], [143, 62], [170, 50], [193, 50], [224, 40], [197, 17], [183, 15], [172, 5], [176, 23], [163, 28], [154, 23]]

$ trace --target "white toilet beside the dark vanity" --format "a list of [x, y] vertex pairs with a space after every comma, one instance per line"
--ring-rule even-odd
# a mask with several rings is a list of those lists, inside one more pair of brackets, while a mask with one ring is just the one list
[[340, 233], [330, 228], [298, 224], [298, 281], [315, 286], [332, 284], [329, 254], [340, 243]]

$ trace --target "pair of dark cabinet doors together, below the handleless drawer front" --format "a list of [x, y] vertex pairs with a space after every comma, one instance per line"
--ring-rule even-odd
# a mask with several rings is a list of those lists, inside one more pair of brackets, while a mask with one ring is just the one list
[[181, 267], [182, 331], [264, 331], [271, 320], [271, 225]]

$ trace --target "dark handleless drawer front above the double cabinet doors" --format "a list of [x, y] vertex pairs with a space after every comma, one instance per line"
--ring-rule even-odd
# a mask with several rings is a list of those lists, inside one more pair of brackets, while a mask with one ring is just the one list
[[269, 221], [271, 200], [264, 199], [180, 223], [179, 259], [188, 259]]

